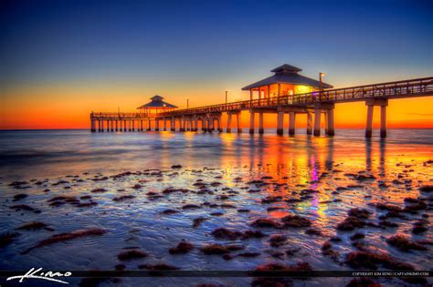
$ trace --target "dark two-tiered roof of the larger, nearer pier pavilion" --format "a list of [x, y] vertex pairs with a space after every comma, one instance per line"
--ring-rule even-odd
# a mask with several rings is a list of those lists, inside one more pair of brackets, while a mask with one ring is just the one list
[[[250, 90], [255, 87], [263, 87], [273, 84], [290, 84], [290, 85], [302, 85], [302, 86], [310, 86], [310, 87], [320, 87], [321, 84], [319, 81], [312, 79], [310, 77], [304, 77], [298, 74], [301, 72], [299, 67], [293, 67], [287, 64], [284, 64], [280, 67], [276, 67], [271, 70], [271, 72], [275, 73], [275, 75], [271, 77], [264, 78], [259, 82], [248, 85], [247, 87], [242, 87], [242, 90]], [[323, 83], [322, 88], [331, 88], [333, 86]]]

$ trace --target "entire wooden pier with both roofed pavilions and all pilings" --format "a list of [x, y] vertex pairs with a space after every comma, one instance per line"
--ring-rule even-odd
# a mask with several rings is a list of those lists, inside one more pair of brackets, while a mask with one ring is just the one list
[[[289, 135], [295, 134], [295, 121], [298, 115], [307, 117], [307, 134], [321, 135], [323, 115], [325, 134], [334, 135], [333, 109], [336, 104], [364, 101], [367, 107], [365, 137], [371, 138], [373, 131], [373, 111], [380, 107], [380, 136], [386, 137], [386, 107], [388, 100], [406, 97], [433, 96], [433, 77], [407, 79], [357, 87], [333, 88], [333, 86], [310, 77], [301, 76], [299, 67], [282, 65], [271, 70], [274, 74], [256, 83], [243, 87], [249, 91], [249, 100], [223, 103], [197, 108], [178, 109], [164, 102], [164, 97], [151, 97], [151, 102], [139, 107], [137, 113], [90, 114], [91, 131], [143, 131], [163, 130], [211, 132], [223, 131], [221, 118], [227, 114], [227, 132], [232, 131], [233, 117], [236, 118], [237, 132], [241, 133], [240, 112], [249, 111], [249, 133], [256, 131], [255, 117], [259, 116], [259, 133], [264, 132], [263, 115], [277, 115], [277, 134], [284, 133], [284, 115], [289, 114]], [[176, 125], [177, 122], [177, 125]], [[152, 128], [153, 123], [153, 128]], [[144, 128], [145, 127], [145, 128]]]

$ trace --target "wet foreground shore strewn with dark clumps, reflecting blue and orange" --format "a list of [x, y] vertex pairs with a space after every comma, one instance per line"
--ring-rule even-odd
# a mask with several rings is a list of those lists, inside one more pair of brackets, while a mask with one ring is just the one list
[[[337, 156], [330, 157], [319, 148], [307, 160], [281, 161], [284, 156], [278, 153], [268, 157], [260, 153], [264, 160], [252, 155], [238, 165], [200, 167], [195, 160], [190, 167], [173, 159], [164, 168], [121, 167], [117, 173], [88, 170], [60, 177], [1, 179], [4, 260], [0, 267], [431, 269], [431, 150], [425, 146], [402, 150], [385, 143], [384, 155], [375, 148], [365, 155], [357, 154], [359, 147], [353, 145], [352, 154], [340, 154], [339, 149], [333, 152]], [[68, 281], [89, 283], [77, 278]], [[425, 283], [372, 281], [383, 286]], [[102, 281], [100, 286], [178, 286], [181, 282], [331, 286], [346, 285], [351, 279], [192, 278], [185, 283], [180, 278], [121, 278]]]

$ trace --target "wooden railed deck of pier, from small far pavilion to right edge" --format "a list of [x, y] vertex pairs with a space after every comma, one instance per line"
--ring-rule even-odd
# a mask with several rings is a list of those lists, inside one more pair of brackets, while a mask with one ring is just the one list
[[238, 111], [251, 108], [275, 108], [289, 106], [312, 106], [315, 103], [343, 103], [370, 98], [404, 98], [433, 95], [433, 77], [386, 82], [357, 87], [343, 87], [290, 96], [268, 97], [253, 100], [218, 104], [198, 108], [178, 109], [158, 114], [158, 117], [173, 117], [188, 114], [205, 114]]

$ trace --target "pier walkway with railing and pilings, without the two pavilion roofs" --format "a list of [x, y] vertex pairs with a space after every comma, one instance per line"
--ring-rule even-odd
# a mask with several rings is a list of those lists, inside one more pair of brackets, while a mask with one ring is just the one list
[[[268, 86], [269, 95], [270, 88]], [[259, 116], [259, 133], [263, 133], [263, 115], [272, 113], [277, 115], [277, 133], [283, 134], [284, 114], [290, 115], [289, 134], [295, 133], [295, 120], [299, 114], [307, 116], [307, 134], [320, 136], [321, 118], [325, 121], [325, 133], [334, 134], [333, 109], [336, 104], [364, 101], [367, 106], [365, 137], [372, 136], [373, 110], [380, 107], [381, 126], [380, 135], [386, 137], [386, 107], [388, 100], [407, 97], [433, 96], [433, 77], [408, 79], [396, 82], [386, 82], [357, 87], [343, 87], [312, 91], [302, 94], [284, 95], [277, 97], [261, 97], [263, 90], [258, 89], [259, 98], [253, 98], [253, 89], [250, 89], [249, 100], [224, 103], [212, 106], [175, 109], [162, 113], [102, 113], [90, 114], [91, 131], [143, 131], [143, 130], [179, 130], [198, 131], [199, 125], [204, 131], [223, 131], [221, 117], [227, 114], [227, 132], [232, 131], [232, 118], [235, 117], [237, 131], [242, 132], [239, 114], [248, 110], [250, 114], [249, 133], [256, 130], [255, 117]], [[278, 84], [280, 95], [280, 84]], [[312, 118], [314, 121], [312, 122]], [[163, 123], [160, 126], [161, 122]], [[106, 126], [104, 125], [106, 124]], [[152, 128], [153, 123], [153, 128]]]

